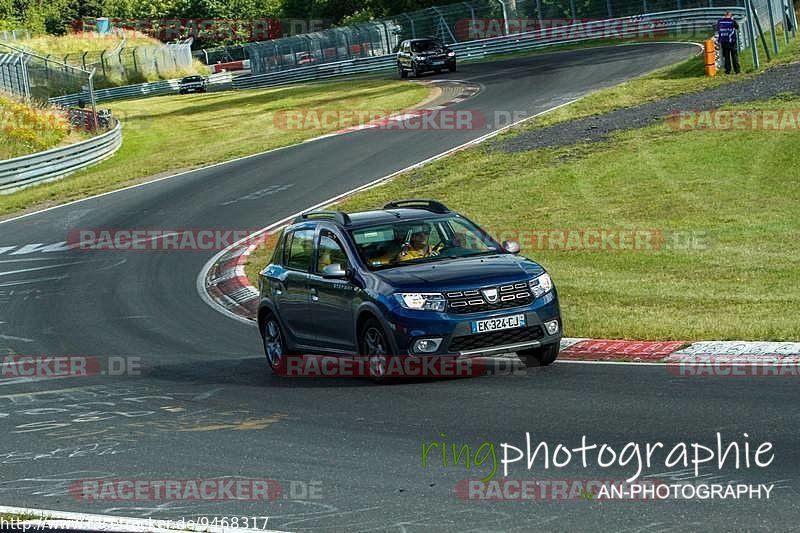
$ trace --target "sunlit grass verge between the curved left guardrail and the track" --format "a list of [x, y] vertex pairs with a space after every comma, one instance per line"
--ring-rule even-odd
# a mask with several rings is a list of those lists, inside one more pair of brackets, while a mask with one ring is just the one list
[[0, 216], [287, 146], [351, 125], [282, 129], [273, 124], [279, 110], [396, 111], [423, 100], [429, 91], [416, 83], [360, 80], [111, 103], [114, 116], [123, 123], [117, 154], [62, 180], [0, 196]]

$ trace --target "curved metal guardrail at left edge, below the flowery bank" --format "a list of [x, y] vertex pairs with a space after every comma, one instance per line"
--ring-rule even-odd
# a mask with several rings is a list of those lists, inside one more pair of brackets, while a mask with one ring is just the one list
[[122, 124], [105, 133], [44, 152], [0, 161], [0, 194], [63, 178], [113, 155], [122, 145]]

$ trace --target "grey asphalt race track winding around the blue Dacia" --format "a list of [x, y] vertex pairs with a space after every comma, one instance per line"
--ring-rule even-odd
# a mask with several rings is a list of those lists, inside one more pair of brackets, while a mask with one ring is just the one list
[[[483, 86], [458, 109], [533, 114], [696, 51], [597, 48], [466, 65], [441, 77]], [[157, 518], [269, 516], [269, 527], [284, 530], [796, 529], [796, 378], [701, 379], [657, 365], [558, 363], [522, 376], [388, 386], [279, 379], [255, 328], [198, 295], [196, 277], [214, 250], [47, 248], [76, 229], [255, 230], [488, 131], [364, 130], [0, 225], [1, 355], [141, 364], [141, 375], [0, 380], [0, 503]], [[775, 459], [767, 468], [700, 473], [704, 481], [775, 489], [766, 501], [470, 501], [456, 494], [457, 483], [485, 476], [486, 464], [472, 471], [421, 465], [423, 443], [474, 450], [491, 442], [500, 453], [502, 442], [524, 446], [526, 431], [553, 446], [577, 446], [586, 435], [618, 449], [656, 441], [711, 447], [716, 432], [754, 448], [769, 441]], [[529, 472], [520, 462], [509, 478], [631, 473], [575, 460]], [[691, 477], [682, 467], [646, 474], [664, 482]], [[85, 501], [69, 490], [95, 478], [218, 477], [279, 480], [283, 491], [252, 502]]]

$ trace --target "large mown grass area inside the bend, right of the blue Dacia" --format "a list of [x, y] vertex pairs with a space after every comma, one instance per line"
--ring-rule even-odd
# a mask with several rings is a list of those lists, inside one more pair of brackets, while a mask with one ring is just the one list
[[[787, 95], [732, 109], [798, 106], [800, 98]], [[797, 129], [678, 132], [661, 124], [562, 149], [479, 147], [337, 208], [437, 198], [494, 234], [521, 236], [522, 253], [553, 276], [569, 336], [797, 340], [798, 145]], [[570, 251], [527, 237], [584, 229], [656, 231], [667, 244]], [[258, 254], [251, 279], [268, 255]]]

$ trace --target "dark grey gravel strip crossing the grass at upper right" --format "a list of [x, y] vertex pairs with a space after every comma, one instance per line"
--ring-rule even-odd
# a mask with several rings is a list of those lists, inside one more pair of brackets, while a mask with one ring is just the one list
[[604, 115], [525, 131], [500, 141], [496, 148], [506, 152], [522, 152], [601, 141], [616, 131], [650, 126], [673, 112], [708, 110], [724, 104], [767, 100], [787, 92], [800, 94], [800, 63], [771, 68], [755, 78], [728, 83], [705, 91], [673, 96], [636, 107], [618, 109]]

